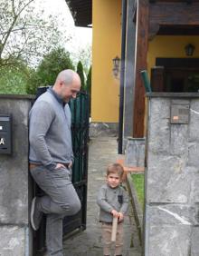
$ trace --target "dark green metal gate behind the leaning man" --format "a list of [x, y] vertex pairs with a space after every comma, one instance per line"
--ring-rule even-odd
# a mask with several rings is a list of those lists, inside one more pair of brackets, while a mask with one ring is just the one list
[[[36, 98], [46, 91], [47, 87], [39, 88]], [[81, 211], [63, 219], [63, 236], [75, 230], [86, 229], [88, 152], [89, 152], [89, 119], [90, 95], [79, 93], [69, 103], [71, 108], [71, 139], [74, 153], [72, 167], [72, 183], [81, 200]], [[43, 191], [34, 183], [34, 194], [41, 196]], [[45, 250], [45, 218], [39, 231], [33, 231], [33, 255], [40, 255]]]

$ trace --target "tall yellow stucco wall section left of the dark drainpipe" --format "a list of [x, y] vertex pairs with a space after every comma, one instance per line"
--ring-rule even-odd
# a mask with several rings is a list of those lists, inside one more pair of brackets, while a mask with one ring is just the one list
[[112, 59], [121, 51], [121, 0], [92, 1], [91, 122], [118, 122], [119, 83]]

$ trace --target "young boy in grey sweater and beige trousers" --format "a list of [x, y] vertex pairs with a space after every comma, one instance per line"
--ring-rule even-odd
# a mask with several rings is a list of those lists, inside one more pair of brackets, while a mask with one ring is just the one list
[[107, 182], [100, 188], [97, 203], [100, 206], [100, 222], [102, 239], [104, 243], [104, 255], [110, 255], [111, 231], [113, 217], [118, 218], [118, 229], [115, 243], [115, 254], [121, 256], [123, 246], [123, 220], [128, 211], [128, 194], [120, 182], [124, 173], [119, 163], [113, 163], [107, 169]]

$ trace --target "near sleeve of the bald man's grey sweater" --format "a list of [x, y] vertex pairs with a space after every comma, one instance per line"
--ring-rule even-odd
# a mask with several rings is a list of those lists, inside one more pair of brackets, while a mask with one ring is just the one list
[[48, 151], [45, 142], [45, 135], [51, 126], [54, 113], [49, 103], [38, 102], [33, 105], [30, 112], [30, 131], [29, 141], [37, 159], [47, 168], [54, 168], [55, 162], [52, 162], [52, 156]]

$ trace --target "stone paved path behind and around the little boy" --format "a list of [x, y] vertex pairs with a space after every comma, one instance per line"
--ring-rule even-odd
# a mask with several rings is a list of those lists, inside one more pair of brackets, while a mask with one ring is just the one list
[[[91, 138], [89, 154], [87, 229], [63, 242], [65, 256], [102, 256], [99, 207], [96, 194], [105, 181], [106, 167], [116, 162], [117, 141], [115, 137]], [[130, 207], [129, 207], [130, 208]], [[123, 256], [140, 256], [137, 228], [131, 208], [125, 219], [125, 243]], [[132, 246], [134, 245], [134, 246]]]

